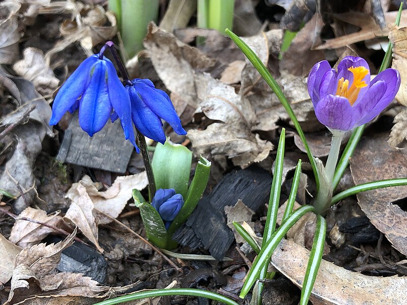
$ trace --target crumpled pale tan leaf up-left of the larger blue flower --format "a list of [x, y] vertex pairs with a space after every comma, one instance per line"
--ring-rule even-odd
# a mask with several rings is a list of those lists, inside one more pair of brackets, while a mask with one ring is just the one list
[[16, 62], [13, 69], [21, 77], [32, 81], [43, 96], [52, 95], [60, 82], [49, 68], [42, 51], [37, 48], [25, 48], [23, 59]]

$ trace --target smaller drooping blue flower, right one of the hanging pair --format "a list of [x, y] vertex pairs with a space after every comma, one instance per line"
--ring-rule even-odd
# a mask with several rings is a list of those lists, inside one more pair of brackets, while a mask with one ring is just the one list
[[130, 96], [133, 123], [144, 136], [164, 144], [161, 119], [167, 121], [177, 134], [187, 134], [168, 95], [156, 89], [150, 79], [135, 78], [126, 85], [126, 90]]

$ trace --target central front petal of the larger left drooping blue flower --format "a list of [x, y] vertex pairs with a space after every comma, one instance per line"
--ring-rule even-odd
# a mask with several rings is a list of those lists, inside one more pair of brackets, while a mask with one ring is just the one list
[[79, 125], [92, 137], [106, 125], [110, 113], [106, 67], [100, 60], [94, 66], [91, 81], [79, 102]]

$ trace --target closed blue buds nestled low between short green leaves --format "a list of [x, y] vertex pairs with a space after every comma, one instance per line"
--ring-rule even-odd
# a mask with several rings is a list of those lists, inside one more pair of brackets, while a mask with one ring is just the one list
[[151, 204], [160, 214], [168, 230], [184, 205], [184, 198], [181, 194], [176, 194], [174, 189], [158, 189]]

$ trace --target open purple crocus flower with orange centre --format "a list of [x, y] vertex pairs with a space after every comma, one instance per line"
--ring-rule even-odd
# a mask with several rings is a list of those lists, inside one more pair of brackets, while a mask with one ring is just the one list
[[400, 87], [397, 70], [386, 69], [370, 81], [366, 60], [346, 56], [332, 69], [327, 60], [308, 76], [316, 118], [330, 130], [348, 131], [368, 123], [394, 99]]

